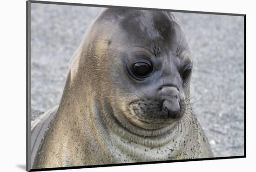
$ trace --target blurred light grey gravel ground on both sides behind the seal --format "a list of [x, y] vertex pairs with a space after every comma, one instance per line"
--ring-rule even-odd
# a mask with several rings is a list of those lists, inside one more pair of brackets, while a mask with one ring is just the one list
[[[68, 62], [102, 10], [32, 4], [32, 120], [59, 104]], [[243, 17], [174, 14], [190, 39], [191, 101], [213, 152], [216, 157], [243, 155]]]

